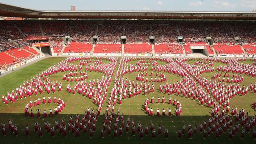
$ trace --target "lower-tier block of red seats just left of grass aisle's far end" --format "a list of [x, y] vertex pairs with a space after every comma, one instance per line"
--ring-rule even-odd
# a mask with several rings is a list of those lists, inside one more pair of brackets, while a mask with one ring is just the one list
[[121, 44], [96, 44], [94, 53], [121, 53]]

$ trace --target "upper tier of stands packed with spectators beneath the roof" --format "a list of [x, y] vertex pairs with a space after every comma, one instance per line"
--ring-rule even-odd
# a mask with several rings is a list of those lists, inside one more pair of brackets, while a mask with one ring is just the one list
[[155, 36], [156, 44], [174, 43], [178, 36], [186, 43], [205, 42], [206, 37], [212, 37], [215, 43], [230, 43], [234, 42], [232, 31], [244, 43], [256, 42], [256, 27], [251, 21], [0, 21], [0, 26], [0, 43], [43, 34], [69, 35], [71, 42], [80, 43], [91, 43], [95, 35], [99, 37], [97, 43], [105, 44], [121, 43], [121, 36], [127, 37], [126, 43], [149, 42], [149, 36]]

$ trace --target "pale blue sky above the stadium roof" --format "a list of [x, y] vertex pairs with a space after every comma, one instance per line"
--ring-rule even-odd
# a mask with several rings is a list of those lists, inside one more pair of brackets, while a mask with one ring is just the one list
[[252, 11], [256, 0], [0, 0], [36, 10]]

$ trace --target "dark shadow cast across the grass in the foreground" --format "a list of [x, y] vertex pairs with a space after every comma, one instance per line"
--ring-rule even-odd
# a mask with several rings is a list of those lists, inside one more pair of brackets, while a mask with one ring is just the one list
[[[36, 115], [35, 115], [36, 116]], [[41, 115], [42, 116], [42, 115]], [[93, 135], [93, 139], [89, 138], [89, 129], [86, 134], [83, 133], [83, 131], [80, 131], [80, 138], [76, 138], [75, 135], [72, 135], [72, 132], [68, 132], [67, 137], [65, 138], [63, 135], [60, 135], [59, 131], [55, 131], [55, 138], [51, 137], [51, 134], [44, 130], [44, 123], [45, 121], [48, 121], [48, 123], [51, 124], [51, 127], [55, 126], [54, 121], [59, 120], [59, 123], [61, 123], [61, 119], [64, 118], [66, 121], [66, 125], [69, 122], [69, 116], [71, 114], [59, 114], [54, 115], [53, 117], [45, 117], [45, 118], [31, 118], [26, 117], [24, 114], [17, 113], [17, 114], [11, 114], [11, 113], [1, 113], [1, 121], [5, 122], [7, 131], [6, 136], [3, 137], [2, 134], [0, 134], [1, 144], [80, 144], [80, 143], [122, 143], [122, 144], [137, 144], [137, 143], [147, 143], [147, 144], [170, 144], [170, 143], [184, 143], [184, 144], [205, 144], [206, 142], [208, 144], [248, 144], [248, 143], [254, 143], [255, 140], [252, 138], [252, 130], [250, 133], [245, 133], [245, 138], [243, 140], [240, 139], [241, 130], [240, 127], [239, 133], [236, 133], [236, 135], [229, 140], [228, 139], [228, 132], [222, 133], [218, 140], [215, 139], [215, 133], [212, 133], [210, 136], [207, 137], [206, 140], [203, 139], [203, 133], [199, 133], [199, 128], [197, 129], [197, 135], [192, 136], [193, 139], [188, 139], [188, 133], [187, 133], [187, 125], [190, 123], [192, 124], [192, 128], [197, 125], [199, 127], [200, 123], [203, 123], [204, 120], [208, 121], [209, 116], [180, 116], [180, 117], [156, 117], [156, 116], [145, 116], [145, 115], [131, 115], [131, 121], [134, 120], [136, 124], [136, 133], [135, 136], [132, 136], [131, 134], [131, 127], [129, 128], [129, 133], [125, 133], [125, 128], [123, 129], [123, 136], [120, 136], [118, 134], [117, 139], [114, 138], [114, 124], [112, 123], [112, 131], [110, 136], [108, 136], [107, 131], [104, 132], [104, 139], [101, 139], [100, 137], [100, 129], [102, 128], [102, 122], [104, 120], [104, 115], [100, 115], [98, 117], [98, 120], [96, 122], [96, 131]], [[8, 119], [11, 117], [12, 122], [14, 125], [18, 127], [18, 137], [15, 137], [14, 133], [11, 133], [10, 129], [8, 128]], [[80, 115], [81, 120], [82, 114]], [[116, 116], [115, 116], [116, 117]], [[126, 121], [127, 116], [124, 117], [124, 120]], [[250, 118], [249, 118], [250, 119]], [[73, 120], [75, 122], [75, 115], [73, 114]], [[34, 129], [34, 123], [38, 122], [40, 124], [40, 127], [43, 131], [43, 137], [39, 138], [38, 134], [33, 131]], [[145, 128], [145, 125], [149, 126], [150, 129], [150, 122], [154, 123], [154, 128], [156, 130], [156, 138], [152, 139], [151, 132], [149, 130], [148, 136], [144, 134], [144, 138], [140, 139], [139, 132], [137, 131], [137, 124], [142, 124], [142, 128]], [[235, 122], [235, 120], [234, 120]], [[30, 129], [30, 137], [26, 136], [25, 126], [29, 125]], [[120, 125], [120, 122], [119, 122]], [[161, 135], [158, 135], [158, 125], [162, 126], [162, 133]], [[183, 136], [181, 136], [181, 140], [177, 139], [177, 130], [179, 128], [182, 128], [182, 126], [186, 126], [186, 132]], [[236, 125], [236, 123], [234, 123]], [[164, 130], [165, 128], [169, 129], [169, 138], [165, 139]], [[119, 133], [119, 130], [117, 130], [117, 133]]]

